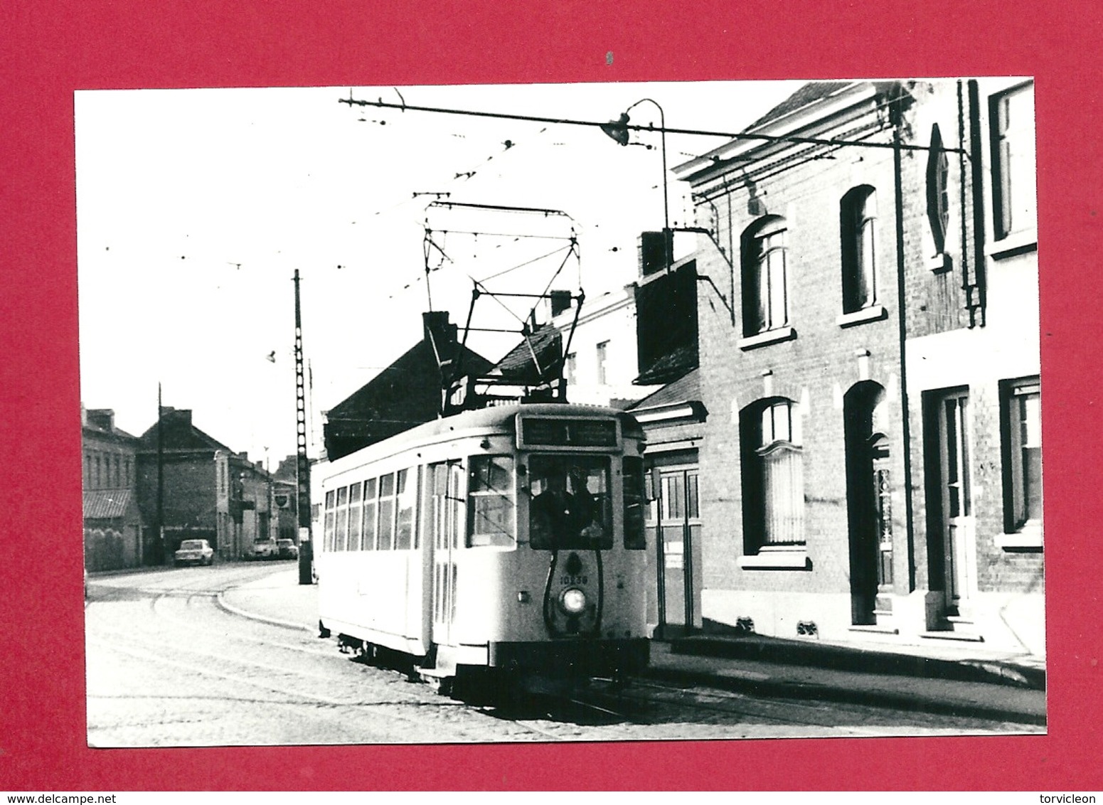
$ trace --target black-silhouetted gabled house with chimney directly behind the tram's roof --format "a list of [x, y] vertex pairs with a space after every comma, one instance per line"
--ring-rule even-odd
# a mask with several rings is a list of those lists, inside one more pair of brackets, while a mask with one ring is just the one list
[[436, 419], [441, 411], [442, 371], [476, 375], [491, 368], [491, 362], [457, 342], [457, 326], [449, 323], [447, 312], [422, 318], [421, 341], [325, 411], [322, 430], [330, 461]]

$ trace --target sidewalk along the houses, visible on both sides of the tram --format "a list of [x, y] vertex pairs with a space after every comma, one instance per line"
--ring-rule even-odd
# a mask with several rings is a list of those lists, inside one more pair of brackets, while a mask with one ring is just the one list
[[[227, 590], [224, 609], [317, 634], [318, 588], [298, 571], [276, 572]], [[909, 647], [912, 648], [912, 647]], [[654, 642], [645, 675], [775, 698], [907, 708], [923, 712], [1046, 723], [1045, 667], [1036, 657], [997, 657], [976, 648], [874, 651], [748, 635]]]

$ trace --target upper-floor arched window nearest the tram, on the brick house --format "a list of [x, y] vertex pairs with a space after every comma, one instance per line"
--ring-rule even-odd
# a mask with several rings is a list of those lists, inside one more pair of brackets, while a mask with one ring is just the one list
[[743, 335], [757, 335], [789, 324], [785, 219], [771, 215], [743, 232]]

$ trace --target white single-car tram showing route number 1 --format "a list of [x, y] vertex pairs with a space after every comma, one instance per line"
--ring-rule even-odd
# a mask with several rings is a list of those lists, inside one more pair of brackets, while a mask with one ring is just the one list
[[318, 464], [323, 634], [449, 684], [643, 667], [643, 441], [611, 408], [510, 405]]

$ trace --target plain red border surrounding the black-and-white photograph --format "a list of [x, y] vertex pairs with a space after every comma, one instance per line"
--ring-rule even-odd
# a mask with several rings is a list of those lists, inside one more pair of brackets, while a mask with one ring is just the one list
[[[397, 4], [395, 4], [397, 6]], [[1088, 0], [501, 3], [9, 0], [0, 49], [7, 523], [0, 786], [1103, 788], [1093, 191], [1099, 14]], [[606, 54], [613, 54], [607, 64]], [[1034, 74], [1038, 77], [1050, 734], [428, 748], [92, 751], [79, 604], [73, 90]], [[1072, 291], [1071, 293], [1069, 291]], [[1093, 303], [1092, 300], [1095, 300]], [[1092, 457], [1092, 458], [1089, 458]], [[417, 769], [417, 773], [410, 770]]]

